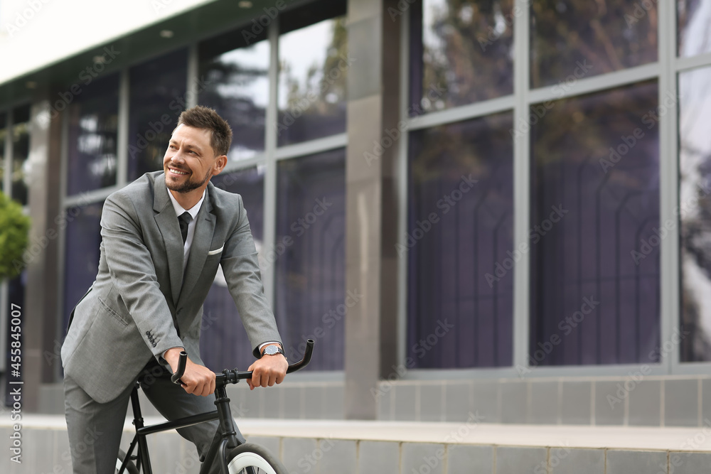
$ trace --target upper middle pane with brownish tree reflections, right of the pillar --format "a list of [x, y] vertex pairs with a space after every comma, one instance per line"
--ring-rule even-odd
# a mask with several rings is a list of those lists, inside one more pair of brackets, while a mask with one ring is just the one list
[[530, 11], [531, 87], [657, 60], [656, 1], [534, 0]]

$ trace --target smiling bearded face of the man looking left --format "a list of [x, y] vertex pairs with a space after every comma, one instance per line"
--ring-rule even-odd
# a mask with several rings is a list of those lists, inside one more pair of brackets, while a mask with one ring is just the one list
[[[210, 146], [212, 131], [180, 124], [173, 131], [163, 158], [166, 185], [176, 193], [189, 193], [207, 185], [210, 178], [222, 171], [223, 156], [215, 156]], [[224, 157], [227, 161], [227, 157]]]

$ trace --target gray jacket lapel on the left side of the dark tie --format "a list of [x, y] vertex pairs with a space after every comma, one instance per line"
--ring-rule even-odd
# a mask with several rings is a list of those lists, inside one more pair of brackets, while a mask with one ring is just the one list
[[155, 216], [156, 224], [166, 245], [166, 259], [171, 275], [171, 295], [173, 303], [177, 304], [183, 279], [183, 239], [181, 239], [178, 217], [168, 197], [164, 174], [156, 178], [154, 194], [153, 209], [158, 212]]

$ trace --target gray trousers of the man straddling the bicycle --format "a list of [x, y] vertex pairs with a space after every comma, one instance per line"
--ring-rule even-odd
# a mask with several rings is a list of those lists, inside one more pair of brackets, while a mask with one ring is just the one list
[[[137, 377], [141, 389], [158, 411], [168, 420], [215, 410], [215, 396], [198, 397], [185, 392], [171, 382], [166, 368], [151, 360]], [[121, 434], [126, 420], [127, 408], [134, 383], [111, 402], [98, 403], [68, 375], [64, 377], [64, 399], [69, 446], [75, 474], [113, 474], [121, 443]], [[179, 429], [178, 433], [196, 445], [199, 456], [205, 456], [213, 441], [218, 421], [201, 423]], [[237, 424], [235, 423], [235, 428]], [[151, 435], [155, 436], [155, 435]], [[237, 439], [245, 442], [237, 429]], [[135, 454], [135, 451], [134, 451]], [[155, 456], [155, 455], [154, 455]], [[180, 456], [175, 454], [175, 465], [180, 466]], [[219, 473], [219, 464], [210, 468], [210, 473]]]

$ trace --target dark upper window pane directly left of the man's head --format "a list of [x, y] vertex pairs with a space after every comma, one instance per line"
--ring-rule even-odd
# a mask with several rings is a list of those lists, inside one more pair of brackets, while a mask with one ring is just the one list
[[163, 169], [163, 156], [185, 109], [188, 53], [178, 50], [129, 72], [128, 180]]

